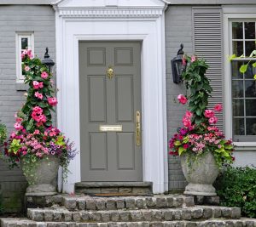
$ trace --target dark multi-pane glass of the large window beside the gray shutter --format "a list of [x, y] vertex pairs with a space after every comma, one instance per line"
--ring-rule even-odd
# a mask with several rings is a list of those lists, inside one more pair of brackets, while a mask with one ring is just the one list
[[[231, 99], [233, 140], [256, 141], [256, 68], [248, 56], [256, 49], [255, 21], [231, 21], [232, 54], [245, 56], [231, 61]], [[241, 65], [248, 65], [245, 73]]]

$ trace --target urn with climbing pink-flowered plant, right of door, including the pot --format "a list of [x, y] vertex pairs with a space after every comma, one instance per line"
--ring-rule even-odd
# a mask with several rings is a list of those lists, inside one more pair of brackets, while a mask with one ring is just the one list
[[184, 194], [216, 196], [212, 183], [218, 176], [218, 169], [234, 161], [234, 146], [230, 139], [224, 139], [224, 133], [216, 126], [216, 113], [222, 111], [222, 105], [207, 109], [212, 88], [205, 76], [208, 68], [205, 60], [186, 56], [183, 64], [188, 64], [183, 81], [189, 95], [179, 94], [177, 99], [183, 105], [189, 102], [189, 110], [183, 116], [183, 127], [177, 128], [170, 139], [170, 154], [181, 158], [183, 173], [189, 182]]

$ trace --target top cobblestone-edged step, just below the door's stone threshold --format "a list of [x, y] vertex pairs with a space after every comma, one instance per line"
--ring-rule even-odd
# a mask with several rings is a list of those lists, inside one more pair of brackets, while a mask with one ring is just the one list
[[30, 206], [52, 207], [59, 205], [73, 210], [117, 210], [117, 209], [146, 209], [146, 208], [175, 208], [194, 207], [193, 196], [181, 195], [156, 195], [156, 196], [28, 196]]

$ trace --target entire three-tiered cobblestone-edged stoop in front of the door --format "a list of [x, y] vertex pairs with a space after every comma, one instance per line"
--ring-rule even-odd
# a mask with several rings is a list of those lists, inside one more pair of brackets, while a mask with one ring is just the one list
[[[27, 218], [1, 218], [3, 227], [256, 227], [238, 207], [195, 205], [193, 196], [27, 197]], [[35, 208], [41, 204], [41, 207]]]

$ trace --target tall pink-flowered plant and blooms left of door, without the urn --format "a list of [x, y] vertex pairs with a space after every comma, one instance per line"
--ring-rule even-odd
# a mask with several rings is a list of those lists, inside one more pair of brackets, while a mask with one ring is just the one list
[[[55, 111], [58, 103], [53, 95], [53, 76], [41, 60], [33, 58], [30, 50], [25, 50], [21, 57], [25, 83], [29, 88], [25, 105], [15, 115], [15, 131], [5, 143], [4, 154], [11, 167], [20, 161], [32, 167], [44, 157], [56, 156], [65, 177], [67, 166], [77, 151], [73, 149], [73, 143], [52, 126], [51, 111]], [[31, 170], [27, 169], [24, 174], [30, 174]]]

